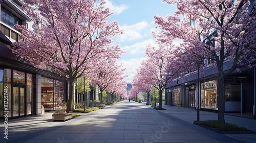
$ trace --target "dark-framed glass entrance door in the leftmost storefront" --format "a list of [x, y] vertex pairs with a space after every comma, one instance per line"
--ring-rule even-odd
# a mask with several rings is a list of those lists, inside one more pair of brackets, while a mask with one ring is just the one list
[[12, 87], [13, 101], [12, 101], [12, 116], [25, 115], [25, 88]]

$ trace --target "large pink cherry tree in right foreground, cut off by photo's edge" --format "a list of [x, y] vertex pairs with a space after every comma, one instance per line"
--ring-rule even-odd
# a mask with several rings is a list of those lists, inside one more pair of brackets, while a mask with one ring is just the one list
[[[177, 5], [174, 15], [155, 16], [162, 44], [181, 40], [178, 47], [191, 62], [213, 60], [218, 68], [218, 121], [224, 124], [224, 77], [239, 66], [255, 62], [255, 14], [249, 14], [248, 0], [163, 0]], [[223, 64], [230, 60], [231, 68]], [[246, 62], [242, 62], [242, 61]], [[186, 61], [186, 60], [184, 60]], [[187, 61], [186, 61], [187, 62]], [[195, 66], [194, 66], [195, 67]], [[204, 65], [203, 69], [206, 68]], [[209, 67], [208, 67], [209, 68]]]

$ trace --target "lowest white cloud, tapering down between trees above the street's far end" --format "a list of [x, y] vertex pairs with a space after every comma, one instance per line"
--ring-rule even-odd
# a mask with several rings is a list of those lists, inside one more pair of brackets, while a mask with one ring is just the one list
[[124, 75], [128, 75], [128, 77], [124, 79], [126, 82], [128, 83], [133, 82], [133, 77], [137, 74], [137, 69], [144, 59], [145, 58], [129, 59], [128, 61], [125, 61], [125, 60], [120, 61], [123, 63], [124, 68], [126, 68], [124, 71]]

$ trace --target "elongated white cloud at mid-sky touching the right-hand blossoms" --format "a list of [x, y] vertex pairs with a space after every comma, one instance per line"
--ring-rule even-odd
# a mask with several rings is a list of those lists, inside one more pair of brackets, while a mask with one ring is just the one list
[[126, 54], [145, 54], [146, 46], [148, 44], [154, 46], [155, 41], [153, 39], [148, 39], [130, 46], [126, 45], [124, 47], [121, 47], [121, 49], [124, 50]]

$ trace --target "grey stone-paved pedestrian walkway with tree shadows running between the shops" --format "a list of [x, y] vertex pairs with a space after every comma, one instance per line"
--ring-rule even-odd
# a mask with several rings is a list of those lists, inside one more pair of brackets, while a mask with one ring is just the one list
[[[0, 142], [255, 142], [256, 134], [219, 134], [193, 124], [195, 109], [163, 105], [154, 110], [143, 103], [125, 100], [104, 109], [84, 113], [66, 122], [53, 122], [52, 113], [4, 121]], [[200, 111], [200, 120], [218, 114]], [[234, 123], [256, 131], [256, 120], [225, 115]]]

